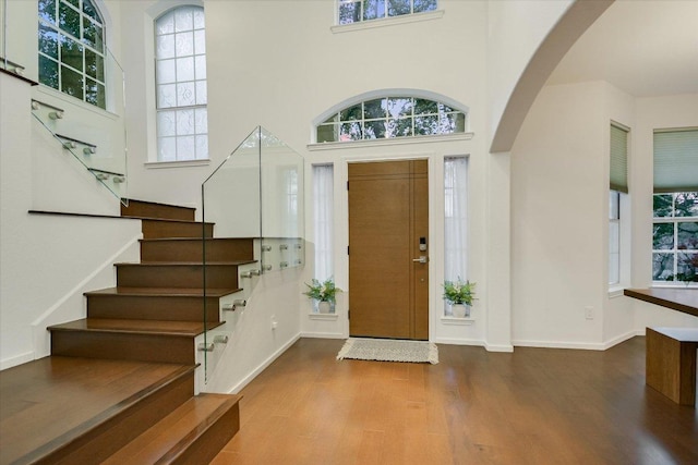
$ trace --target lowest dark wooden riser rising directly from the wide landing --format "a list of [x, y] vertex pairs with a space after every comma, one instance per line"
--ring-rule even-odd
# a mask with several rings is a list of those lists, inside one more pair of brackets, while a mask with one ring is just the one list
[[191, 364], [191, 338], [101, 331], [51, 331], [51, 354], [69, 357]]

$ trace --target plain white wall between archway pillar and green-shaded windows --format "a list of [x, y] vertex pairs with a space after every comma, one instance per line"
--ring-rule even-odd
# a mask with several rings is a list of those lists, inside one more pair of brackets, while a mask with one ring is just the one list
[[545, 87], [512, 150], [515, 344], [601, 342], [604, 87]]

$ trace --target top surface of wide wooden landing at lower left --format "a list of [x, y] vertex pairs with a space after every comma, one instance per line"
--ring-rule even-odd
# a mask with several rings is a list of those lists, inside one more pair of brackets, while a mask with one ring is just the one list
[[2, 463], [32, 463], [194, 366], [51, 356], [0, 371]]

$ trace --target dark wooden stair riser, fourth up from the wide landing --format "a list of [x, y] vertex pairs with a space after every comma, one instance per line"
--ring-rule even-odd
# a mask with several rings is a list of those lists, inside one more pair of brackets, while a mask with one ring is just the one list
[[[142, 261], [202, 261], [202, 241], [141, 241]], [[206, 242], [206, 261], [237, 261], [254, 259], [253, 242], [248, 238]]]

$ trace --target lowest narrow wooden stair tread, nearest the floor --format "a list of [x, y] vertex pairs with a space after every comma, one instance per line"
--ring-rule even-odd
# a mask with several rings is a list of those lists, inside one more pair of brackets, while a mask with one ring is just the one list
[[240, 400], [238, 395], [200, 394], [163, 418], [103, 465], [155, 464], [176, 457]]

